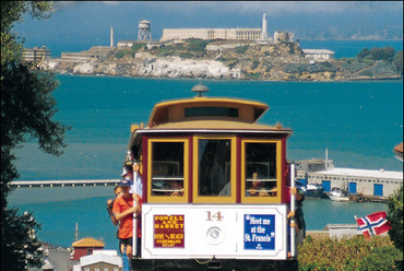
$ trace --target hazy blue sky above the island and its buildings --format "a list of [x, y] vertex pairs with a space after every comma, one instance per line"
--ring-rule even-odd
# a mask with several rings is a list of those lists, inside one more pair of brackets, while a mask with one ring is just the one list
[[[59, 1], [49, 19], [24, 16], [14, 26], [25, 47], [81, 51], [135, 40], [138, 23], [151, 22], [152, 39], [164, 28], [260, 28], [293, 32], [295, 39], [403, 39], [403, 1]], [[54, 55], [54, 54], [52, 54]]]

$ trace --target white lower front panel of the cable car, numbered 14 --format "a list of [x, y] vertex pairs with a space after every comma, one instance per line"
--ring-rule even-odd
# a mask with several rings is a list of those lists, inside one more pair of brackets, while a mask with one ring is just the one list
[[287, 257], [286, 205], [144, 204], [142, 258]]

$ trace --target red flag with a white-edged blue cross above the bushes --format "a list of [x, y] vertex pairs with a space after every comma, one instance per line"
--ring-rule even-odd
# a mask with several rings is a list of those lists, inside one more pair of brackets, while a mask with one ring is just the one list
[[365, 238], [370, 238], [389, 232], [391, 226], [387, 216], [388, 214], [385, 212], [376, 212], [360, 219], [355, 219], [359, 225], [359, 229], [364, 233]]

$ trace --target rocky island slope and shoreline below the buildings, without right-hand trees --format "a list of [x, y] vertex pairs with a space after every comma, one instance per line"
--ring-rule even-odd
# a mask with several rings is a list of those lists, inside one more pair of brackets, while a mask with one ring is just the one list
[[[119, 48], [93, 47], [83, 57], [48, 59], [40, 68], [56, 73], [135, 78], [194, 78], [265, 81], [353, 81], [402, 79], [393, 63], [330, 59], [310, 61], [295, 43], [249, 44], [237, 48], [204, 47], [202, 54], [182, 51], [161, 56], [158, 49], [140, 49], [118, 58]], [[168, 48], [168, 46], [166, 46]], [[176, 48], [176, 47], [173, 47]], [[206, 48], [214, 48], [207, 50]], [[128, 49], [127, 49], [128, 51]], [[62, 55], [63, 56], [63, 55]]]

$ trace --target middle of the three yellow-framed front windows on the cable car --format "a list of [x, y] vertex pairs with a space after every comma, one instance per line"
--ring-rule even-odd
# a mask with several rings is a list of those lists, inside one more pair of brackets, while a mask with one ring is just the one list
[[229, 197], [231, 140], [200, 139], [198, 196]]

